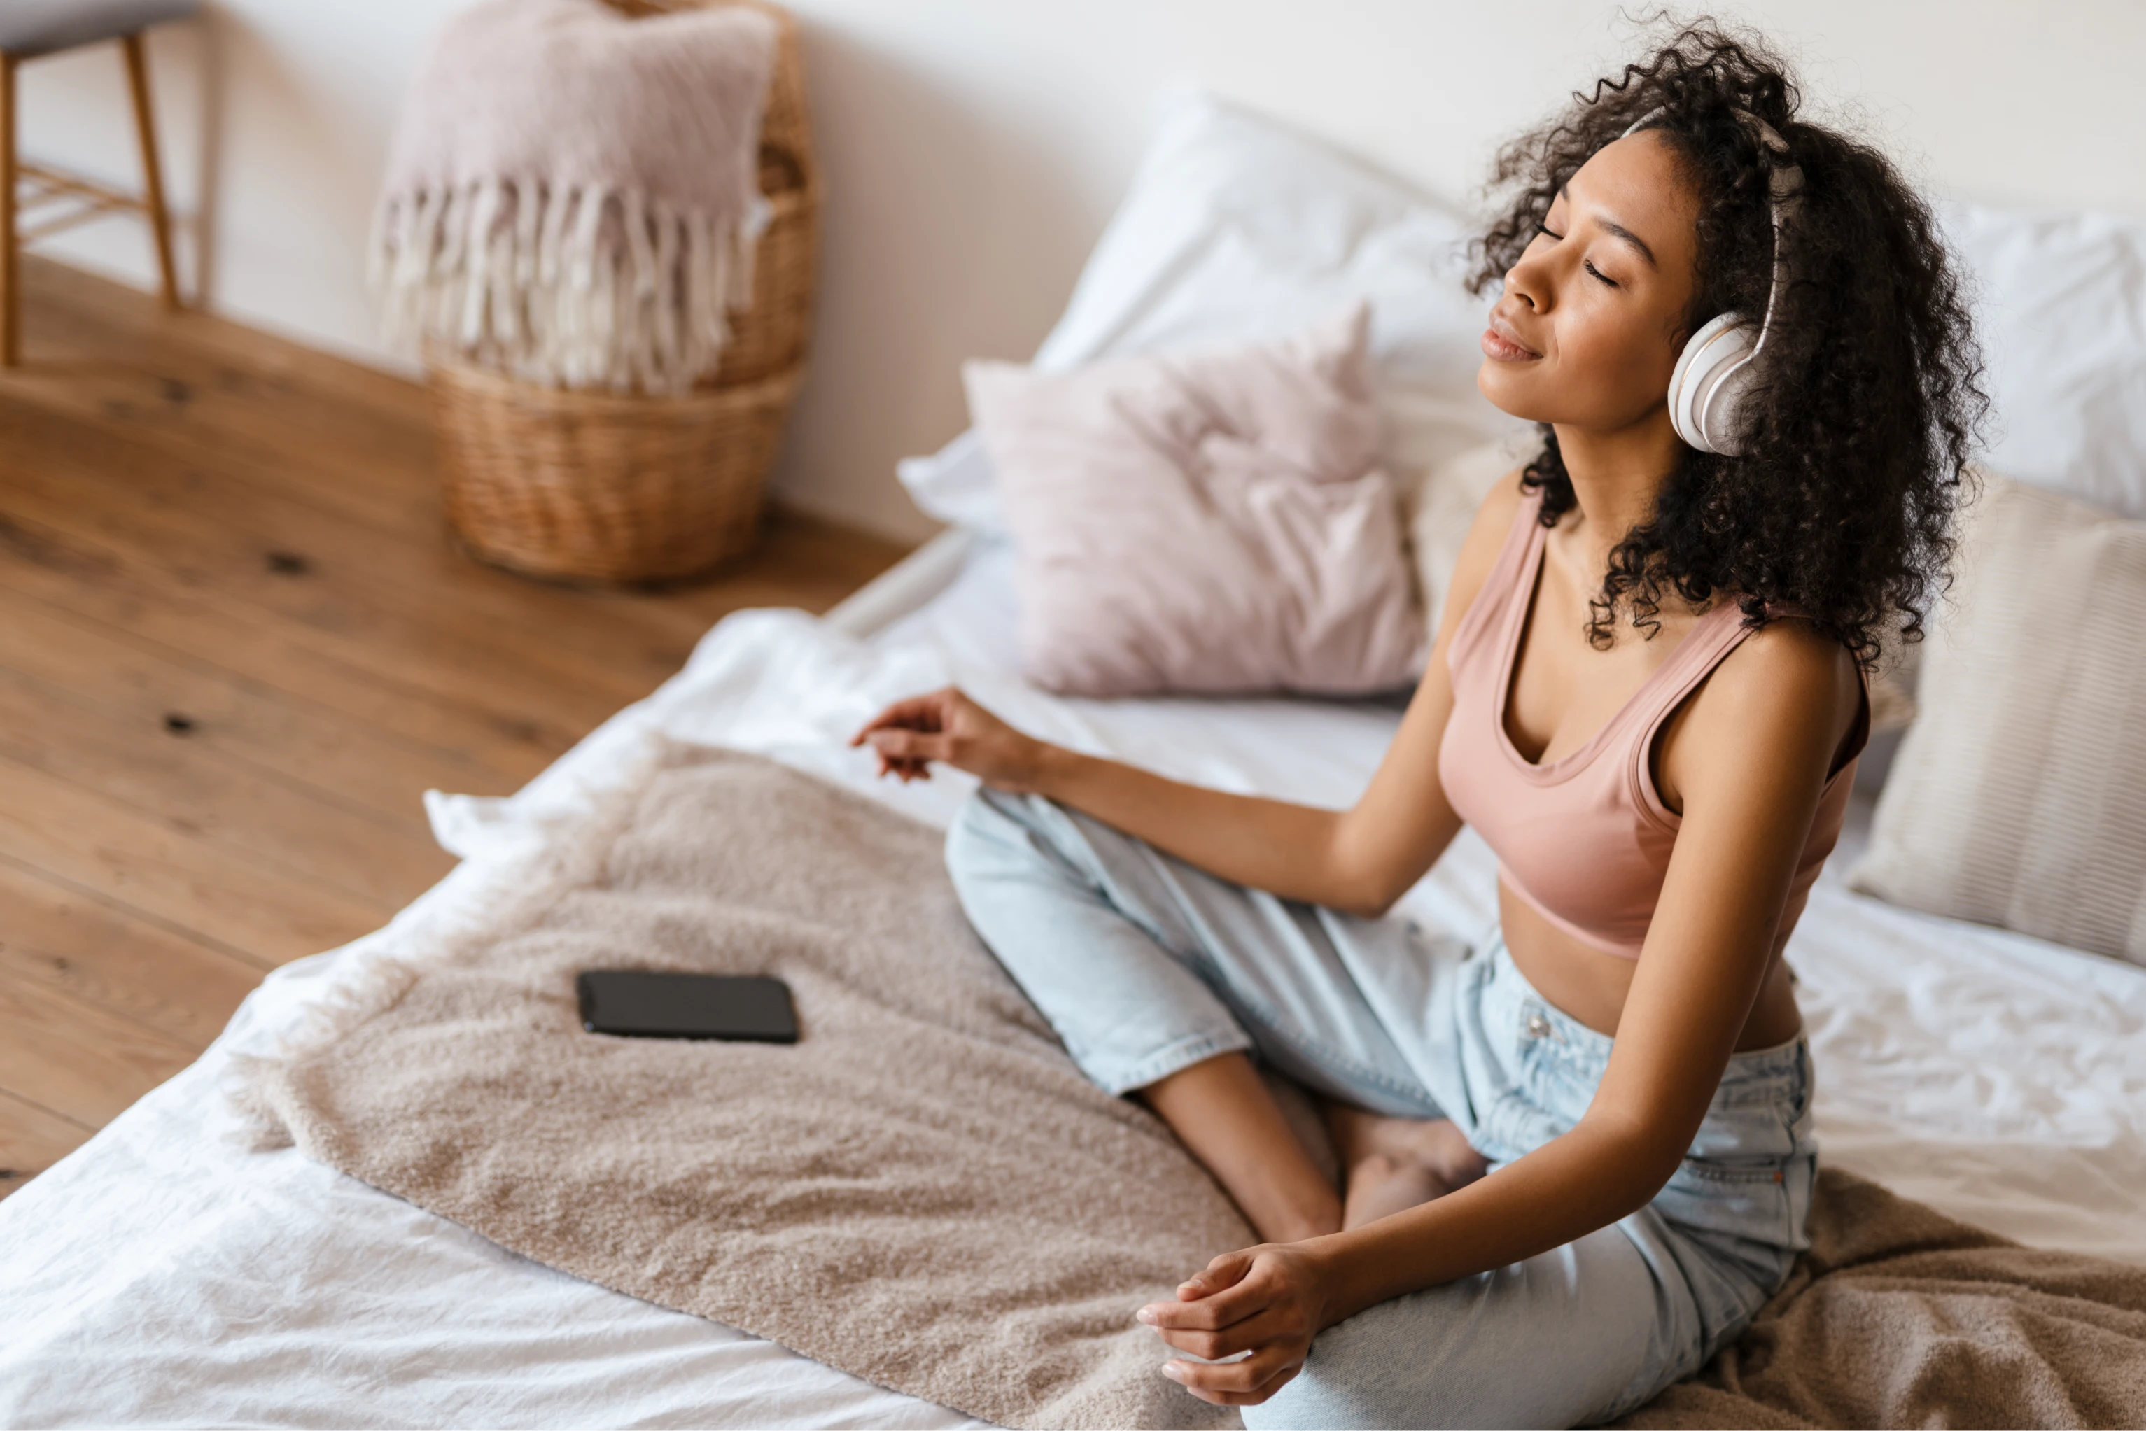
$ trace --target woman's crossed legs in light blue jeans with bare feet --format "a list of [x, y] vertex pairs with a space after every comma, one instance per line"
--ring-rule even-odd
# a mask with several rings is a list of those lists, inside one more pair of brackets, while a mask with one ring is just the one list
[[[1483, 1176], [1429, 1081], [1464, 1088], [1464, 946], [1217, 880], [1086, 815], [991, 790], [949, 832], [970, 920], [1082, 1071], [1142, 1094], [1262, 1238], [1354, 1225]], [[1326, 1101], [1343, 1208], [1249, 1053]], [[1427, 1077], [1429, 1075], [1429, 1077]], [[1706, 1332], [1644, 1210], [1528, 1262], [1371, 1307], [1249, 1427], [1513, 1427], [1629, 1410]]]

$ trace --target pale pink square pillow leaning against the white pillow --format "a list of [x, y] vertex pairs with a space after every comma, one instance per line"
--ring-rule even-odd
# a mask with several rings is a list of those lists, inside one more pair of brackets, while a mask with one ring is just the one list
[[1373, 466], [1367, 326], [1356, 305], [1275, 343], [964, 369], [1017, 554], [1028, 680], [1354, 695], [1421, 672], [1401, 508]]

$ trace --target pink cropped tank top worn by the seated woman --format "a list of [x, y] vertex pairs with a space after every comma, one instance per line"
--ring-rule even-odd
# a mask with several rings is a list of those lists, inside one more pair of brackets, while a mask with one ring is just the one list
[[[1438, 747], [1438, 779], [1453, 811], [1498, 856], [1498, 875], [1543, 918], [1605, 955], [1637, 959], [1670, 873], [1682, 822], [1655, 790], [1655, 732], [1715, 665], [1749, 635], [1743, 611], [1723, 601], [1700, 616], [1670, 659], [1610, 723], [1577, 751], [1532, 764], [1513, 747], [1504, 710], [1519, 637], [1534, 603], [1547, 528], [1543, 493], [1530, 491], [1513, 517], [1498, 564], [1461, 618], [1446, 650], [1453, 717]], [[1856, 712], [1848, 759], [1826, 779], [1788, 886], [1775, 948], [1788, 942], [1811, 882], [1833, 854], [1848, 815], [1856, 757], [1869, 738], [1869, 684]]]

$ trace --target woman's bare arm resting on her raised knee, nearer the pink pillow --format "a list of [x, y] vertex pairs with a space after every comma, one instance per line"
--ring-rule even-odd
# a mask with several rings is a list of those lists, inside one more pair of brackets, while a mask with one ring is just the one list
[[1461, 826], [1438, 783], [1438, 744], [1453, 712], [1446, 646], [1498, 560], [1517, 506], [1519, 474], [1513, 472], [1476, 511], [1429, 665], [1386, 757], [1348, 811], [1185, 785], [1052, 747], [1021, 736], [959, 691], [897, 702], [852, 744], [878, 749], [884, 772], [914, 777], [923, 762], [942, 759], [987, 785], [1049, 796], [1223, 880], [1382, 914], [1423, 877]]

